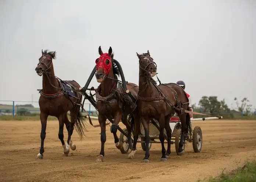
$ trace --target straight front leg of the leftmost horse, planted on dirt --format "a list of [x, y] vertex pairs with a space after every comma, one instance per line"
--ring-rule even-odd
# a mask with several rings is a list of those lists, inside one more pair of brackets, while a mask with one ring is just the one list
[[40, 147], [40, 151], [39, 151], [39, 154], [37, 155], [36, 159], [43, 159], [43, 153], [45, 152], [45, 149], [43, 148], [43, 143], [45, 141], [45, 136], [46, 136], [47, 118], [48, 118], [48, 114], [46, 114], [46, 113], [41, 111], [40, 112], [40, 120], [41, 120], [41, 134], [40, 134], [41, 147]]

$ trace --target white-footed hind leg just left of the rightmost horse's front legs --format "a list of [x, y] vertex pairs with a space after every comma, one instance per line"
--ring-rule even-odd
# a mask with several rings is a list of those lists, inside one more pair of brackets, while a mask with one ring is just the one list
[[[140, 130], [140, 126], [141, 126], [141, 120], [140, 120], [138, 114], [133, 113], [131, 123], [134, 124], [134, 143], [132, 145], [131, 152], [128, 155], [128, 159], [134, 159], [134, 154], [136, 151], [136, 144], [137, 144], [137, 141], [139, 138], [139, 130]], [[131, 125], [131, 128], [132, 128], [132, 125]]]

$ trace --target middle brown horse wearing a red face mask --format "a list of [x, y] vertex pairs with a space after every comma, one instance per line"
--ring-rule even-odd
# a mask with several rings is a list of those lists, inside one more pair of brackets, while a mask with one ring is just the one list
[[[117, 125], [122, 120], [128, 130], [128, 143], [129, 148], [132, 148], [131, 139], [131, 125], [128, 122], [127, 116], [134, 110], [131, 107], [132, 101], [125, 97], [125, 91], [122, 84], [118, 81], [120, 72], [117, 65], [113, 62], [114, 54], [112, 48], [109, 48], [108, 53], [104, 53], [99, 47], [100, 57], [96, 59], [96, 73], [95, 77], [100, 83], [96, 90], [97, 110], [99, 111], [99, 124], [100, 124], [100, 141], [101, 150], [100, 155], [97, 157], [96, 162], [102, 162], [104, 157], [104, 143], [106, 142], [106, 120], [114, 119], [111, 125], [111, 133], [114, 135], [115, 146], [121, 149], [122, 142], [117, 137]], [[131, 91], [132, 95], [137, 98], [139, 87], [134, 83], [126, 83], [127, 89]], [[138, 110], [134, 110], [133, 118], [139, 120]]]

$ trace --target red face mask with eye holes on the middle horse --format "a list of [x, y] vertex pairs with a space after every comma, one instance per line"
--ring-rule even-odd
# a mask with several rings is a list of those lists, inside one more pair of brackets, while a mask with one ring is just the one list
[[100, 57], [96, 59], [95, 63], [97, 64], [96, 71], [99, 68], [102, 68], [105, 75], [109, 74], [110, 69], [112, 67], [111, 57], [109, 56], [109, 54], [104, 53], [100, 55]]

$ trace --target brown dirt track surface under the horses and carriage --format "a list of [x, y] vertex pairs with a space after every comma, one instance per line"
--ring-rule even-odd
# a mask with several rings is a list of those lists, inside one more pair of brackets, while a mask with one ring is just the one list
[[[58, 121], [47, 121], [44, 158], [36, 159], [40, 121], [0, 121], [0, 181], [197, 181], [219, 175], [224, 168], [231, 171], [244, 160], [255, 158], [256, 121], [193, 121], [192, 127], [196, 125], [203, 132], [200, 153], [194, 153], [192, 143], [188, 143], [185, 154], [177, 156], [172, 145], [170, 158], [161, 162], [161, 145], [153, 143], [148, 164], [142, 163], [145, 152], [140, 143], [134, 159], [128, 159], [129, 152], [121, 154], [107, 126], [104, 161], [95, 163], [100, 152], [100, 128], [88, 125], [89, 132], [82, 142], [74, 131], [72, 141], [77, 149], [70, 150], [73, 155], [63, 156]], [[124, 125], [120, 123], [120, 127]], [[64, 137], [66, 141], [66, 130]]]

